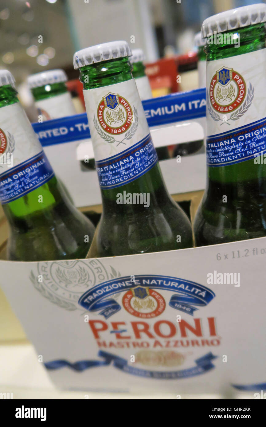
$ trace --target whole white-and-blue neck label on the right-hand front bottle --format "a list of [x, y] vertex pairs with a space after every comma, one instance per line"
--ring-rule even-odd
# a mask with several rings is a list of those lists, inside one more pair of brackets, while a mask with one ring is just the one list
[[266, 49], [207, 62], [207, 164], [254, 159], [266, 149]]

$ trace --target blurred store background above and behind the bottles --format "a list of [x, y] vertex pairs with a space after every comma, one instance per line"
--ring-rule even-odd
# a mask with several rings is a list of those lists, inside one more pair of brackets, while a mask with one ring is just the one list
[[[251, 0], [0, 0], [0, 68], [15, 76], [24, 107], [32, 97], [25, 79], [63, 68], [78, 79], [76, 50], [111, 40], [141, 48], [153, 96], [196, 88], [197, 77], [176, 82], [179, 72], [197, 69], [194, 36], [210, 15], [258, 3]], [[158, 61], [167, 58], [167, 61]], [[170, 61], [168, 61], [170, 59]], [[70, 87], [69, 87], [70, 88]], [[71, 89], [72, 90], [72, 89]]]

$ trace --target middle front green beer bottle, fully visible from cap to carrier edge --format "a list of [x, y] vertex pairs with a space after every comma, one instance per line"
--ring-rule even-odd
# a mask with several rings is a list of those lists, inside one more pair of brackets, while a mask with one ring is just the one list
[[102, 216], [89, 257], [192, 246], [190, 221], [165, 187], [132, 77], [131, 51], [114, 41], [74, 54], [80, 68]]

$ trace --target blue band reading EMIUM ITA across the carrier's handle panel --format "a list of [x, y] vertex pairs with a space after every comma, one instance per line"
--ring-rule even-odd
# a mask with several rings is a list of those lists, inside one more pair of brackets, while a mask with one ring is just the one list
[[[142, 101], [149, 126], [158, 126], [206, 115], [206, 90], [178, 92]], [[91, 137], [86, 113], [33, 123], [42, 146], [61, 144]]]

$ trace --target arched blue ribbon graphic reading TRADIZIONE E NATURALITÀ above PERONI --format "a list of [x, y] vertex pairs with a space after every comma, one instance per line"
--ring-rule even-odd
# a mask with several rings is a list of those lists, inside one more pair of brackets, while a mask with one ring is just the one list
[[198, 310], [195, 305], [204, 307], [215, 297], [212, 290], [196, 282], [171, 276], [135, 275], [134, 282], [131, 281], [131, 276], [126, 276], [93, 287], [79, 298], [79, 304], [91, 312], [100, 311], [108, 319], [121, 308], [117, 301], [108, 297], [137, 287], [176, 292], [170, 298], [170, 307], [191, 316]]

